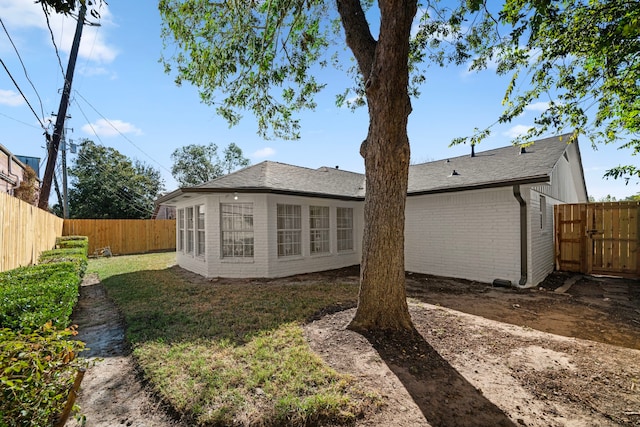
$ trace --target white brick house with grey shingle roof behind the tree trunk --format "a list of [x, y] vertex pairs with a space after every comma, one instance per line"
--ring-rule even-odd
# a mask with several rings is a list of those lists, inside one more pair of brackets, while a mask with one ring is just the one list
[[[587, 201], [569, 135], [412, 165], [407, 271], [528, 287], [553, 270], [553, 206]], [[177, 261], [206, 277], [282, 277], [360, 262], [364, 175], [265, 161], [158, 200]]]

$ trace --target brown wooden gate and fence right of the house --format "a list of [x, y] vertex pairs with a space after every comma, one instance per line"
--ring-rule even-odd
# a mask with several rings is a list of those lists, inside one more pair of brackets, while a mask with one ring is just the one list
[[640, 277], [640, 202], [555, 206], [556, 269]]

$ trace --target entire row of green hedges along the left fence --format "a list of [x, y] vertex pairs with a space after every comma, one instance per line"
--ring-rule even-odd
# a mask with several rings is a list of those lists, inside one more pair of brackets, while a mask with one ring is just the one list
[[[40, 264], [0, 273], [0, 426], [61, 426], [87, 362], [69, 327], [87, 239], [61, 238]], [[77, 409], [77, 407], [76, 407]]]

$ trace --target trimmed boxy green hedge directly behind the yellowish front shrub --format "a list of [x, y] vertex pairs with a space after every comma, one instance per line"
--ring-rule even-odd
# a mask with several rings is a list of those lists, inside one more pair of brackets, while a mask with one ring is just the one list
[[0, 327], [40, 328], [69, 324], [80, 277], [72, 262], [40, 264], [0, 273]]

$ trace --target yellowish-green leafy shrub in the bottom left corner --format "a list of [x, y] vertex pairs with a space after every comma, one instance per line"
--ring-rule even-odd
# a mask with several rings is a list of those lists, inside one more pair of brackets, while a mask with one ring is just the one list
[[[51, 323], [34, 332], [0, 329], [0, 426], [53, 425], [78, 369], [84, 343]], [[76, 408], [77, 410], [77, 408]]]

